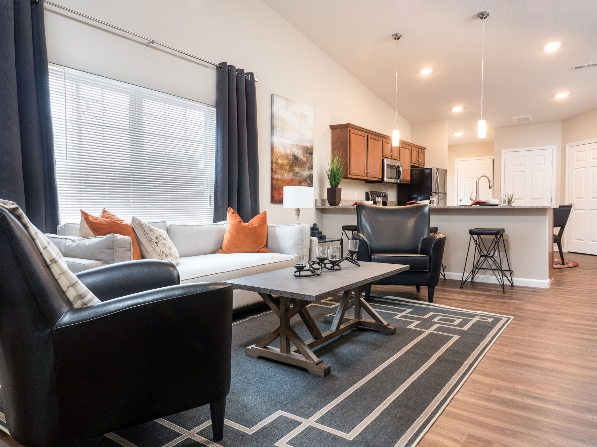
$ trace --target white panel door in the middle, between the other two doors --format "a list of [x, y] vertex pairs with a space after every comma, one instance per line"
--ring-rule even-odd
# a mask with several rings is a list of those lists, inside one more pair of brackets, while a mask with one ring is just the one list
[[504, 150], [501, 192], [515, 205], [552, 205], [553, 148]]

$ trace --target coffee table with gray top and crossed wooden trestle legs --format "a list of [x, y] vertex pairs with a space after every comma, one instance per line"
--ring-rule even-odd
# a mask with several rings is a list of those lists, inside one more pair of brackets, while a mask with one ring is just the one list
[[[279, 317], [280, 324], [259, 343], [245, 349], [249, 357], [264, 357], [287, 365], [307, 369], [311, 374], [325, 377], [330, 374], [330, 365], [319, 359], [311, 349], [325, 343], [353, 328], [371, 329], [381, 334], [396, 333], [390, 325], [370, 306], [362, 292], [381, 278], [408, 270], [401, 264], [370, 263], [361, 261], [361, 266], [343, 263], [341, 270], [325, 270], [320, 276], [295, 278], [294, 268], [259, 273], [244, 278], [230, 279], [224, 282], [235, 289], [257, 292]], [[329, 331], [321, 332], [310, 315], [307, 306], [315, 301], [325, 300], [332, 295], [342, 293], [336, 315], [331, 319]], [[347, 309], [355, 308], [354, 317], [344, 317]], [[371, 318], [363, 318], [365, 311]], [[293, 316], [300, 316], [309, 329], [312, 338], [302, 340], [290, 325]], [[269, 346], [280, 339], [279, 349]], [[290, 344], [294, 344], [291, 348]]]

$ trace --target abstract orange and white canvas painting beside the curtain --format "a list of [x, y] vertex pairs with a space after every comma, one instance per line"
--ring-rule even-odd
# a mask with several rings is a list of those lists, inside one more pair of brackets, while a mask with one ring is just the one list
[[313, 186], [313, 107], [272, 94], [272, 204], [284, 186]]

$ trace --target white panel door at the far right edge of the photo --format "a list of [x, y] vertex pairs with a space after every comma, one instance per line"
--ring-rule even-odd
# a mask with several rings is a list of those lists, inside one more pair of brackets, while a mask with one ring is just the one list
[[568, 147], [568, 251], [597, 254], [597, 143]]

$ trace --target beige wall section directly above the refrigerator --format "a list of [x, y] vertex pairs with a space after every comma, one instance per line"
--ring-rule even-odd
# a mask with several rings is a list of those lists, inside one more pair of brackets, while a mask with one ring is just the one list
[[448, 155], [447, 124], [445, 119], [411, 124], [411, 139], [402, 135], [401, 138], [427, 148], [425, 150], [426, 167], [445, 168]]

